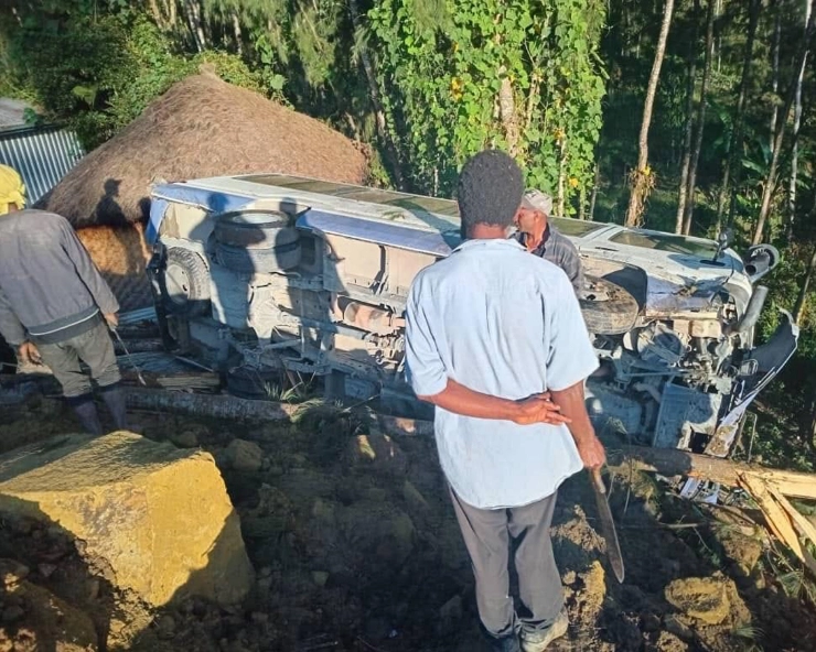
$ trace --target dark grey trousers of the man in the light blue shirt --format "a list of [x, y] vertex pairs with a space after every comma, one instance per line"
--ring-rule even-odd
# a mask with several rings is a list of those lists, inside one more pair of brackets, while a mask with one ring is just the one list
[[[495, 639], [549, 628], [563, 606], [561, 577], [549, 535], [557, 493], [508, 509], [485, 510], [462, 501], [453, 508], [476, 578], [479, 616]], [[515, 547], [518, 616], [509, 595], [509, 555]]]

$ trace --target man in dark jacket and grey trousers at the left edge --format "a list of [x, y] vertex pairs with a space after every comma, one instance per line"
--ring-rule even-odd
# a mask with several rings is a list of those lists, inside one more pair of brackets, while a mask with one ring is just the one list
[[0, 215], [0, 334], [21, 363], [51, 368], [88, 432], [103, 434], [90, 378], [116, 427], [127, 430], [108, 333], [118, 325], [119, 304], [65, 218], [22, 208], [12, 203]]

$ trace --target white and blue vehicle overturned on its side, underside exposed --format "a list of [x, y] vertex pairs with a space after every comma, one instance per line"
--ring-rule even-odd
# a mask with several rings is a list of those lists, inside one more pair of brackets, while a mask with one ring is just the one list
[[[727, 236], [552, 222], [584, 265], [597, 424], [728, 455], [796, 348], [788, 315], [753, 346], [767, 295], [755, 283], [779, 252], [742, 259]], [[148, 238], [168, 345], [224, 370], [234, 393], [268, 398], [282, 374], [308, 374], [333, 396], [428, 409], [405, 382], [402, 313], [415, 275], [460, 241], [455, 202], [279, 174], [204, 178], [152, 188]]]

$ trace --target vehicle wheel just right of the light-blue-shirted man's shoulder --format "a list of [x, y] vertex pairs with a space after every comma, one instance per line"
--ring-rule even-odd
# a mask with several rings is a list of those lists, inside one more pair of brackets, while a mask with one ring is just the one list
[[584, 278], [578, 303], [587, 328], [594, 335], [627, 333], [640, 313], [637, 301], [629, 291], [598, 276]]

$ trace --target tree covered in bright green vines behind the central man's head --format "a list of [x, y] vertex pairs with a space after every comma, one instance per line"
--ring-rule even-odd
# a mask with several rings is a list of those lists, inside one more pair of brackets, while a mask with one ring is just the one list
[[450, 193], [484, 146], [572, 213], [593, 177], [604, 74], [598, 0], [383, 0], [368, 14], [395, 141], [412, 186]]

